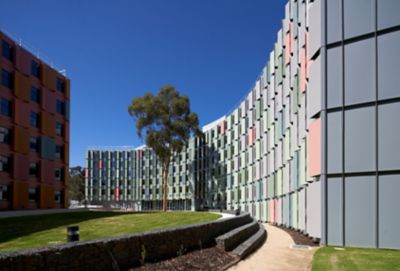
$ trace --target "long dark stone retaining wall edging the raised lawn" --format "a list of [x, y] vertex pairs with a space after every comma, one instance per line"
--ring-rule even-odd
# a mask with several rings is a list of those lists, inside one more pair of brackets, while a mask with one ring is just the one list
[[124, 270], [141, 260], [157, 261], [214, 245], [217, 236], [251, 221], [249, 214], [242, 214], [174, 229], [0, 253], [0, 271]]

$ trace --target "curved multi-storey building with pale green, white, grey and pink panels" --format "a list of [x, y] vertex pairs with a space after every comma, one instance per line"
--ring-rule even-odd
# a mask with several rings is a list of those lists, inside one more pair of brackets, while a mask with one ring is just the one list
[[[170, 202], [241, 208], [323, 244], [399, 249], [399, 10], [397, 0], [288, 1], [253, 88], [171, 166]], [[118, 202], [98, 194], [100, 154], [88, 152], [87, 196]], [[131, 155], [134, 199], [159, 207], [156, 159]]]

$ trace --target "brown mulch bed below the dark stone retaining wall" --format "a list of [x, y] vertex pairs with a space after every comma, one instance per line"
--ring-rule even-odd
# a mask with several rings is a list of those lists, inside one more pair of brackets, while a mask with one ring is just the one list
[[237, 256], [214, 246], [161, 262], [146, 263], [144, 266], [129, 269], [129, 271], [216, 271], [222, 270], [223, 267], [237, 260]]

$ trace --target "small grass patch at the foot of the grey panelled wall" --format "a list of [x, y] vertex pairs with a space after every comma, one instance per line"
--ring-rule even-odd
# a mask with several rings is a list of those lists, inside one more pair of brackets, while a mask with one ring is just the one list
[[400, 251], [323, 247], [315, 253], [312, 264], [312, 271], [319, 270], [400, 270]]

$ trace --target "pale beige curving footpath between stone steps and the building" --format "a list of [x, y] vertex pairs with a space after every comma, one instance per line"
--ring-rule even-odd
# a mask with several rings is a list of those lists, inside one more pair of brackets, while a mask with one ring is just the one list
[[290, 248], [294, 242], [285, 231], [264, 224], [267, 240], [256, 252], [240, 261], [229, 271], [310, 270], [312, 258], [318, 247], [308, 249]]

